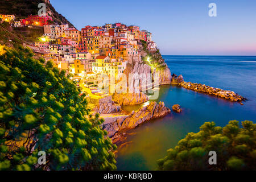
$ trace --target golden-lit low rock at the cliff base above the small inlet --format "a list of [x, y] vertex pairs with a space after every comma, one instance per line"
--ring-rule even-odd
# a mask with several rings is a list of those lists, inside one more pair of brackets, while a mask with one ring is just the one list
[[148, 101], [148, 96], [144, 93], [115, 93], [112, 100], [119, 105], [134, 105]]

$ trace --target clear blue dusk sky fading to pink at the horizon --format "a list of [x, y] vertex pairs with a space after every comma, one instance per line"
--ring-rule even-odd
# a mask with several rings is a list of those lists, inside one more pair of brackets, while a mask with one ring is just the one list
[[[121, 22], [152, 33], [162, 55], [256, 55], [256, 0], [50, 0], [78, 30]], [[217, 16], [210, 17], [209, 3]]]

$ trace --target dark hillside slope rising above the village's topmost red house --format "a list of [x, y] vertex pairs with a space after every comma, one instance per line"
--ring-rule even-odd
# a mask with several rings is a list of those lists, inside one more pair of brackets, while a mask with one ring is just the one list
[[16, 18], [27, 18], [28, 15], [38, 14], [38, 4], [46, 3], [46, 13], [52, 16], [56, 23], [67, 23], [69, 27], [74, 27], [63, 15], [57, 13], [49, 0], [5, 0], [0, 3], [1, 14], [13, 14]]

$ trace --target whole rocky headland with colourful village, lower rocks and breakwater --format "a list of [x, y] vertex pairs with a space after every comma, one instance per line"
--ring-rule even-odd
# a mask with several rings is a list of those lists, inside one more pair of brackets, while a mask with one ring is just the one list
[[[122, 143], [126, 139], [125, 131], [171, 112], [164, 102], [148, 102], [150, 98], [143, 92], [151, 89], [157, 98], [158, 85], [177, 84], [230, 101], [241, 103], [245, 100], [230, 90], [185, 82], [182, 75], [171, 76], [156, 43], [152, 41], [151, 32], [141, 31], [138, 26], [107, 23], [104, 26], [85, 26], [79, 31], [68, 24], [53, 23], [51, 16], [31, 15], [17, 21], [14, 15], [0, 15], [0, 19], [13, 27], [43, 27], [44, 34], [38, 41], [24, 43], [23, 46], [30, 47], [46, 62], [51, 60], [66, 75], [72, 75], [70, 78], [81, 89], [81, 94], [86, 94], [92, 114], [101, 114], [105, 119], [102, 128], [108, 131], [113, 143]], [[129, 74], [135, 77], [128, 80]], [[129, 85], [129, 89], [121, 85], [123, 92], [116, 93], [115, 87], [120, 82]], [[127, 93], [130, 85], [133, 90]], [[138, 92], [133, 92], [136, 88]], [[134, 104], [143, 105], [130, 113], [122, 110], [122, 105]], [[177, 104], [172, 106], [172, 110], [181, 112]]]

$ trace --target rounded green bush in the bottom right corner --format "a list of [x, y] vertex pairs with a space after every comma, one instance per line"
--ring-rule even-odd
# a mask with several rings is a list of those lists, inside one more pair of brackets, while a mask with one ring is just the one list
[[[157, 161], [159, 170], [255, 170], [256, 124], [229, 121], [225, 127], [205, 122], [199, 133], [188, 133], [167, 156]], [[217, 164], [210, 165], [209, 151], [216, 151]]]

